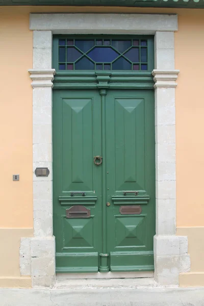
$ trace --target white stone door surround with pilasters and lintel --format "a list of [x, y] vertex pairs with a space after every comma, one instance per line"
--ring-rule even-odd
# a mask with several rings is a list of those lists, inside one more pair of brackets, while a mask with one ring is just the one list
[[33, 167], [35, 170], [46, 166], [50, 174], [43, 179], [34, 174], [34, 238], [30, 242], [21, 240], [21, 274], [31, 271], [33, 287], [52, 286], [55, 282], [52, 34], [146, 34], [155, 35], [155, 70], [152, 72], [156, 81], [155, 278], [161, 285], [179, 284], [179, 271], [189, 269], [185, 264], [189, 258], [187, 238], [175, 236], [175, 80], [179, 71], [174, 70], [174, 31], [177, 31], [177, 15], [97, 14], [96, 18], [95, 14], [31, 13], [30, 30], [34, 31], [33, 69], [29, 70], [33, 81]]

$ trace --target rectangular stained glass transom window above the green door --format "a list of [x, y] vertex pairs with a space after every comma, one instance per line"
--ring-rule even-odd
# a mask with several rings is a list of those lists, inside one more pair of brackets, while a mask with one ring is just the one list
[[59, 70], [148, 70], [147, 39], [58, 40]]

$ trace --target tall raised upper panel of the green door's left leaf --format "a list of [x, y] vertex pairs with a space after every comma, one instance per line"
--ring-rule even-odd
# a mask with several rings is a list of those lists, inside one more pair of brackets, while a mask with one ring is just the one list
[[62, 97], [62, 193], [93, 195], [93, 102], [96, 106], [93, 98]]

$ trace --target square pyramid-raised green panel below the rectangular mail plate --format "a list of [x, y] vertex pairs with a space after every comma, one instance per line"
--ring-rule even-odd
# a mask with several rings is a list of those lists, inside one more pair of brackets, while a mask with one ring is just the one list
[[116, 246], [145, 245], [145, 217], [116, 218]]

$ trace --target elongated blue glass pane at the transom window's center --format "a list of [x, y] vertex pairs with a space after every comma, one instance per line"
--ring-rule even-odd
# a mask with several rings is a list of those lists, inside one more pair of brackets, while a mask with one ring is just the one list
[[88, 53], [94, 62], [112, 62], [118, 54], [111, 48], [95, 47]]

